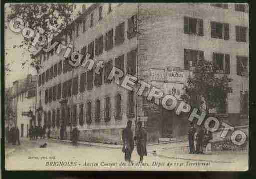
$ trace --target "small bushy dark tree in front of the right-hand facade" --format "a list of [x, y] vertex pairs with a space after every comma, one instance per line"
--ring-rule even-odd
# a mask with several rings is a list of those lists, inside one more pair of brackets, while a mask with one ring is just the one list
[[219, 107], [226, 102], [228, 93], [232, 93], [229, 83], [232, 81], [226, 74], [220, 74], [218, 67], [211, 61], [199, 60], [184, 86], [183, 100], [192, 107], [210, 109]]

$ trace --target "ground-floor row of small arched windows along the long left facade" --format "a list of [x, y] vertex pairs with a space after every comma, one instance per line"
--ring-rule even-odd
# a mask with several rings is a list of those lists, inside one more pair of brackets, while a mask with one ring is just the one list
[[[121, 94], [117, 94], [115, 96], [115, 119], [121, 119], [122, 118], [122, 108], [121, 108]], [[97, 99], [95, 101], [95, 114], [94, 119], [95, 122], [100, 122], [101, 119], [104, 119], [105, 122], [108, 122], [111, 119], [111, 108], [110, 108], [110, 97], [106, 97], [104, 99], [104, 106], [105, 108], [102, 110], [100, 108], [101, 101]], [[128, 92], [128, 106], [127, 106], [127, 117], [134, 117], [134, 92], [129, 91]], [[44, 112], [44, 124], [48, 126], [48, 128], [55, 126], [59, 127], [60, 125], [67, 125], [70, 124], [76, 125], [77, 119], [79, 120], [79, 125], [84, 125], [84, 104], [79, 105], [79, 114], [77, 113], [77, 106], [72, 106], [72, 122], [71, 122], [71, 108], [68, 107], [67, 109], [62, 108], [61, 111], [58, 108], [55, 112], [55, 109], [52, 111]], [[62, 120], [61, 120], [62, 116]], [[88, 102], [86, 104], [86, 123], [91, 124], [92, 122], [92, 103]]]

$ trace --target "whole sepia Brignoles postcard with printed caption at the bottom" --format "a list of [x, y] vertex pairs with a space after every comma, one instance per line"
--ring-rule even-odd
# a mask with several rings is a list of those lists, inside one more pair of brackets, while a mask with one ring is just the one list
[[247, 3], [5, 3], [7, 171], [247, 171]]

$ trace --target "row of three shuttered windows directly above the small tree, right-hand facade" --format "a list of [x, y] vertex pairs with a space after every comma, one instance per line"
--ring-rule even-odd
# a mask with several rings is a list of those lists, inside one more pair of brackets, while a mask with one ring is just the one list
[[[184, 49], [184, 67], [186, 70], [195, 67], [200, 59], [204, 59], [204, 51]], [[213, 52], [213, 62], [221, 73], [230, 74], [229, 54]], [[248, 75], [248, 57], [237, 56], [237, 75]]]

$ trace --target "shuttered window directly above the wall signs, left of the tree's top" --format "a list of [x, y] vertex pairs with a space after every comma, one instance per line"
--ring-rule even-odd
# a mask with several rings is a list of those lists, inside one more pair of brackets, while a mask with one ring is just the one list
[[189, 70], [196, 67], [198, 60], [204, 59], [204, 52], [199, 50], [184, 49], [184, 68]]

